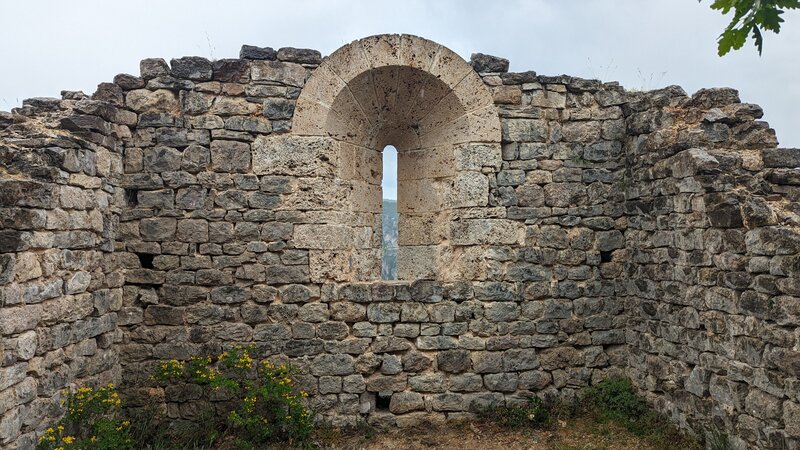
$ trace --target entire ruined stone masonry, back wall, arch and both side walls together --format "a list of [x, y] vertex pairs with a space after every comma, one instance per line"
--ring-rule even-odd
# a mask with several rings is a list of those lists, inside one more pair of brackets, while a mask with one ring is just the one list
[[687, 430], [798, 448], [800, 150], [761, 116], [408, 35], [146, 59], [26, 100], [0, 113], [0, 447], [31, 448], [76, 384], [222, 411], [149, 376], [254, 344], [340, 425], [621, 374]]

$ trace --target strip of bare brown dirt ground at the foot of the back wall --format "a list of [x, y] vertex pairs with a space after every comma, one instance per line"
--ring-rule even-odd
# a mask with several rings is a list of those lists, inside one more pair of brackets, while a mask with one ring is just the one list
[[468, 423], [335, 436], [323, 439], [320, 444], [337, 450], [657, 449], [614, 424], [600, 424], [586, 418], [562, 421], [554, 431], [508, 430], [489, 423]]

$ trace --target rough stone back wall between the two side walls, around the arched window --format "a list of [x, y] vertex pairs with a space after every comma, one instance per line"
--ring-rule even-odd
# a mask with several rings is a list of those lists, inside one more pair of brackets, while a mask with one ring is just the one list
[[[431, 56], [446, 50], [423, 44]], [[117, 236], [127, 273], [120, 351], [128, 385], [147, 391], [160, 360], [254, 343], [299, 369], [329, 419], [408, 425], [533, 392], [568, 393], [624, 366], [624, 286], [614, 256], [624, 245], [622, 189], [614, 186], [623, 176], [624, 120], [603, 100], [618, 98], [619, 87], [489, 72], [489, 89], [481, 89], [501, 105], [496, 134], [420, 149], [403, 134], [410, 128], [362, 135], [348, 128], [350, 116], [328, 135], [298, 131], [287, 120], [295, 98], [323, 84], [311, 81], [316, 71], [332, 69], [317, 68], [313, 53], [285, 52], [276, 61], [148, 60], [141, 82], [125, 91], [139, 114], [125, 149], [128, 206]], [[481, 80], [461, 65], [456, 86], [467, 75]], [[398, 73], [401, 82], [377, 89], [396, 93], [403, 76], [427, 82]], [[274, 115], [274, 104], [289, 114]], [[414, 174], [434, 174], [401, 175], [401, 203], [404, 192], [421, 192], [448, 209], [418, 227], [419, 216], [401, 215], [400, 258], [415, 262], [401, 282], [378, 279], [380, 191], [364, 200], [380, 185], [380, 155], [365, 140], [382, 133], [394, 133], [385, 143], [398, 146], [401, 170], [410, 151]], [[214, 407], [179, 386], [163, 395], [176, 418]]]

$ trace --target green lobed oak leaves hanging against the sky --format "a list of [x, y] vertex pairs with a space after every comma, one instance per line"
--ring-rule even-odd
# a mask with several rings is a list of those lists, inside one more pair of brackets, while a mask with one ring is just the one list
[[742, 48], [749, 35], [761, 55], [764, 46], [761, 30], [780, 33], [784, 22], [781, 15], [790, 9], [800, 9], [800, 0], [714, 0], [711, 9], [722, 14], [733, 11], [731, 22], [717, 40], [719, 56]]

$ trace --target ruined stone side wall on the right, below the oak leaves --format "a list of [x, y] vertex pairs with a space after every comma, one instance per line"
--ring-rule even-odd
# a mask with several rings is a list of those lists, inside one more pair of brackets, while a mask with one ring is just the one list
[[628, 373], [733, 448], [800, 437], [800, 151], [732, 89], [625, 105]]

